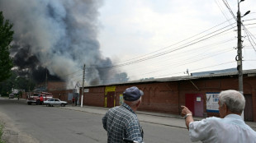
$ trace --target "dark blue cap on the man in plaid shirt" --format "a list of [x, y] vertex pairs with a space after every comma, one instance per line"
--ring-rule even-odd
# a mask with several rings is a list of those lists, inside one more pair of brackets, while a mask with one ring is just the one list
[[137, 99], [140, 99], [140, 96], [142, 95], [144, 95], [143, 91], [139, 90], [136, 86], [127, 88], [123, 93], [124, 99], [126, 101], [135, 101]]

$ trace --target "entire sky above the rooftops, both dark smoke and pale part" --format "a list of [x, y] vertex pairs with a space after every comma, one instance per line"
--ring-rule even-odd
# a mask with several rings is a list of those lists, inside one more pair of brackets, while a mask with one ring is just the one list
[[[237, 0], [0, 0], [0, 10], [14, 24], [19, 71], [38, 81], [47, 69], [81, 84], [84, 63], [88, 85], [121, 71], [139, 80], [237, 64]], [[255, 69], [256, 1], [240, 10], [251, 11], [242, 17], [244, 70]]]

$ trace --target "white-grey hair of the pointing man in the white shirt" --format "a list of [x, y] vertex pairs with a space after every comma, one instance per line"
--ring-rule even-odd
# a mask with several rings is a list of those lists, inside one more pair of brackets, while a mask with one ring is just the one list
[[219, 95], [220, 106], [226, 104], [232, 113], [242, 113], [245, 106], [244, 95], [237, 90], [221, 91]]

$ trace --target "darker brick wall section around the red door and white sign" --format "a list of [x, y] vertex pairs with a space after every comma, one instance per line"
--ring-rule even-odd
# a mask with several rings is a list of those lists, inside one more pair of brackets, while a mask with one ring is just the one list
[[[192, 85], [192, 82], [194, 85]], [[221, 90], [238, 90], [238, 78], [230, 77], [225, 79], [205, 79], [179, 81], [179, 102], [185, 104], [186, 94], [202, 94], [204, 95], [204, 113], [206, 113], [206, 93], [220, 92]], [[197, 87], [195, 87], [195, 85]], [[197, 90], [198, 88], [198, 90]], [[254, 122], [256, 122], [256, 77], [244, 77], [244, 95], [252, 95]], [[219, 117], [219, 113], [207, 113], [208, 117]]]

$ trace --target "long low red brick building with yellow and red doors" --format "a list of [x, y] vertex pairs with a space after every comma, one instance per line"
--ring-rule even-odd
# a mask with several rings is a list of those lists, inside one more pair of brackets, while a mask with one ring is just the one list
[[[180, 114], [180, 106], [186, 105], [195, 116], [209, 117], [218, 116], [216, 95], [221, 90], [238, 90], [239, 81], [237, 71], [229, 71], [203, 76], [178, 76], [116, 85], [87, 86], [84, 87], [83, 104], [118, 106], [123, 101], [122, 92], [134, 85], [145, 93], [139, 110]], [[244, 71], [244, 97], [244, 120], [256, 122], [256, 70]]]

